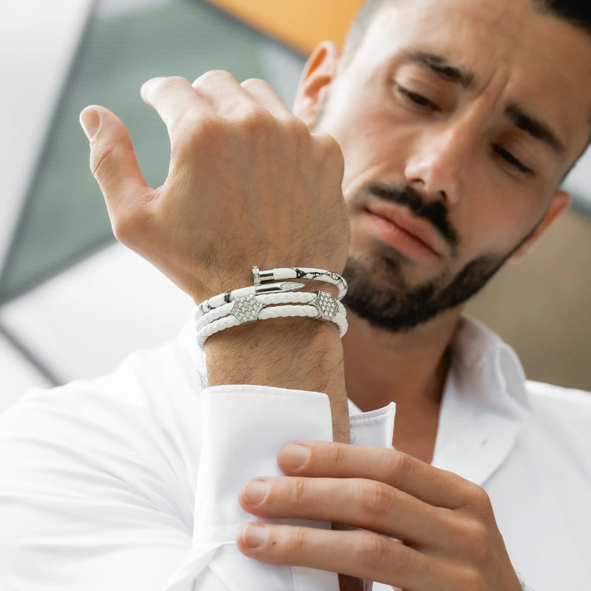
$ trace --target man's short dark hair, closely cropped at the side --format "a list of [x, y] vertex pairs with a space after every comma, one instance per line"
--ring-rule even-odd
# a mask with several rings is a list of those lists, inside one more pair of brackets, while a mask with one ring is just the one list
[[[386, 5], [399, 0], [366, 0], [349, 29], [345, 43], [345, 56], [352, 56], [363, 43], [363, 38], [375, 15]], [[569, 21], [575, 27], [591, 34], [590, 0], [531, 0], [540, 12], [548, 12]]]

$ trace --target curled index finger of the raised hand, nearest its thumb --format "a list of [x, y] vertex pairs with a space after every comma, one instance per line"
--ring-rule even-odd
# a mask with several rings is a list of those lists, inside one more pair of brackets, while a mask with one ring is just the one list
[[152, 78], [144, 83], [140, 94], [145, 103], [156, 109], [171, 139], [187, 121], [195, 122], [215, 115], [189, 80], [181, 76]]

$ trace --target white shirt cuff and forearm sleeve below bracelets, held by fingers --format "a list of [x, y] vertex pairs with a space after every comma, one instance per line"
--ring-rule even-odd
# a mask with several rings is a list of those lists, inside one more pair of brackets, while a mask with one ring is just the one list
[[[281, 476], [277, 452], [289, 441], [332, 441], [328, 397], [259, 386], [213, 387], [201, 395], [201, 418], [192, 547], [164, 590], [338, 591], [335, 573], [259, 563], [243, 556], [235, 544], [239, 527], [255, 521], [238, 504], [243, 483], [257, 476]], [[292, 522], [330, 527], [326, 522]]]

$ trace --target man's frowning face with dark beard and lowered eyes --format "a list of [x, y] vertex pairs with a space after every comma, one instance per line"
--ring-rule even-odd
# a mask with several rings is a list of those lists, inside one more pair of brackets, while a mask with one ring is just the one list
[[591, 137], [591, 37], [529, 0], [398, 0], [329, 90], [348, 306], [391, 330], [472, 296]]

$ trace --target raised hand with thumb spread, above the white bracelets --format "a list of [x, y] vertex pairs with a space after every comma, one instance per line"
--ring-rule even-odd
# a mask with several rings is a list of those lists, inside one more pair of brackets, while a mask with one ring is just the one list
[[142, 98], [167, 125], [171, 161], [150, 189], [122, 122], [100, 106], [80, 118], [116, 238], [196, 301], [252, 282], [260, 268], [341, 272], [349, 247], [343, 158], [262, 80], [209, 72], [193, 85], [154, 78]]

